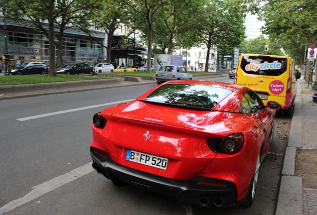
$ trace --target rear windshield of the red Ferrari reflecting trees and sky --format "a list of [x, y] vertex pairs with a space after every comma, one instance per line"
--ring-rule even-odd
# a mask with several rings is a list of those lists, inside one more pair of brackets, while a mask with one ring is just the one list
[[178, 107], [211, 109], [232, 91], [209, 86], [165, 84], [153, 91], [144, 101]]

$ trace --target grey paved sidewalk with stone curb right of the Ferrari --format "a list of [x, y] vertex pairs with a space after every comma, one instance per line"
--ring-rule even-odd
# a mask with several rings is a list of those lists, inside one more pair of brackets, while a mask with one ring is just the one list
[[[305, 80], [298, 80], [297, 84], [296, 104], [275, 215], [317, 215], [317, 189], [304, 187], [304, 176], [295, 175], [296, 150], [317, 149], [317, 132], [312, 129], [317, 123], [317, 106], [312, 102], [314, 92], [309, 91]], [[307, 93], [302, 93], [304, 91]]]

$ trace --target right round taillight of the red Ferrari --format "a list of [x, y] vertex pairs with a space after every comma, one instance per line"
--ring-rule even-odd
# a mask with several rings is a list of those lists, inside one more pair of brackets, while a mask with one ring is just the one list
[[242, 134], [232, 134], [221, 140], [220, 146], [224, 153], [237, 153], [243, 146], [244, 137]]

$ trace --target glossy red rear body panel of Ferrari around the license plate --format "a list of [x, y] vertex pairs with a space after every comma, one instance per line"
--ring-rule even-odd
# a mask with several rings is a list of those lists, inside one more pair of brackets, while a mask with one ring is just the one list
[[[121, 165], [167, 178], [188, 180], [213, 161], [209, 138], [242, 132], [250, 124], [239, 113], [157, 106], [142, 101], [107, 108], [100, 113], [105, 128], [94, 127], [94, 140]], [[145, 134], [149, 131], [149, 139]], [[168, 158], [166, 170], [127, 161], [127, 149]]]

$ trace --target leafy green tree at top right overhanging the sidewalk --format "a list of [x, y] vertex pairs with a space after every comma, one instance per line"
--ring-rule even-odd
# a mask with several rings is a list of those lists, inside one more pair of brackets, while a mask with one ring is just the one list
[[302, 66], [306, 47], [317, 41], [316, 1], [258, 0], [258, 5], [258, 13], [265, 21], [263, 32], [275, 38]]

